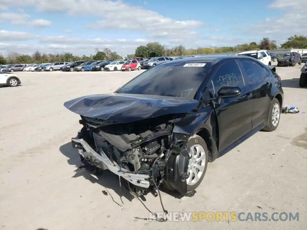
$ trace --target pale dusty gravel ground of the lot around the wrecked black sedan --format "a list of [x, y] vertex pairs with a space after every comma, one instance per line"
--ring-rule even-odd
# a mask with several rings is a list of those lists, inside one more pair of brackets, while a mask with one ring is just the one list
[[[70, 140], [81, 128], [65, 101], [115, 91], [141, 71], [17, 72], [22, 85], [0, 88], [0, 228], [100, 229], [305, 229], [307, 226], [307, 89], [301, 66], [277, 67], [284, 104], [275, 132], [258, 132], [208, 164], [194, 197], [161, 192], [165, 209], [178, 212], [299, 212], [299, 221], [149, 222], [146, 207], [162, 211], [158, 197], [132, 199], [117, 176], [99, 179], [81, 165]], [[106, 191], [106, 192], [104, 192]], [[107, 195], [106, 195], [107, 194]], [[122, 199], [122, 201], [121, 201]]]

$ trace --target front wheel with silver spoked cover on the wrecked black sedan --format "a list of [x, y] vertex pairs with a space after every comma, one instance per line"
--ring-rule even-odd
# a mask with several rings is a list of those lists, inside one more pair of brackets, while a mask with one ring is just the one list
[[204, 179], [208, 165], [208, 147], [198, 135], [191, 136], [187, 142], [190, 159], [187, 170], [187, 192], [195, 190]]

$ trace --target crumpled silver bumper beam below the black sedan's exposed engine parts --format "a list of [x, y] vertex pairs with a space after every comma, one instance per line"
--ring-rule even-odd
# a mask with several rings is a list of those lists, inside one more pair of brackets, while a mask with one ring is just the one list
[[82, 147], [84, 148], [86, 155], [90, 155], [92, 158], [94, 158], [98, 163], [105, 166], [108, 170], [110, 170], [112, 173], [124, 178], [131, 184], [134, 184], [135, 186], [140, 186], [143, 188], [148, 188], [150, 185], [150, 176], [146, 174], [136, 174], [131, 171], [128, 171], [124, 168], [121, 168], [118, 165], [115, 165], [111, 162], [111, 160], [107, 157], [107, 155], [103, 152], [102, 149], [99, 149], [101, 155], [99, 155], [97, 152], [95, 152], [94, 149], [91, 148], [89, 144], [84, 139], [77, 139], [72, 138], [72, 143], [80, 143]]

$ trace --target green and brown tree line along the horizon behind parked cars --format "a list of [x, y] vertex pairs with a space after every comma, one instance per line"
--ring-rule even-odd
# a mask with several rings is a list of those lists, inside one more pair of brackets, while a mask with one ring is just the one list
[[[216, 47], [216, 48], [196, 48], [186, 49], [182, 45], [175, 46], [173, 48], [167, 48], [166, 46], [158, 42], [150, 42], [146, 46], [139, 46], [135, 49], [134, 54], [127, 54], [125, 58], [131, 57], [157, 57], [157, 56], [183, 56], [183, 55], [195, 55], [195, 54], [209, 54], [209, 53], [225, 53], [225, 52], [243, 52], [256, 49], [274, 50], [277, 49], [276, 41], [270, 40], [268, 37], [263, 38], [259, 43], [251, 42], [250, 44], [240, 44], [236, 46], [228, 47]], [[281, 49], [306, 49], [307, 48], [307, 36], [294, 35], [289, 37], [284, 44], [281, 45]], [[95, 55], [90, 56], [74, 56], [72, 53], [63, 54], [44, 54], [36, 51], [32, 56], [10, 52], [7, 57], [0, 56], [0, 64], [30, 64], [30, 63], [50, 63], [50, 62], [72, 62], [76, 60], [108, 60], [108, 59], [122, 59], [116, 52], [112, 52], [110, 49], [105, 48], [103, 51], [99, 49], [95, 50]]]

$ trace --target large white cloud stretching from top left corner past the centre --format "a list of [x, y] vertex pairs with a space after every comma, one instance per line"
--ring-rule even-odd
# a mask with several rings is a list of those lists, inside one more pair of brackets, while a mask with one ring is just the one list
[[[138, 6], [130, 6], [122, 1], [109, 0], [2, 0], [10, 6], [34, 6], [39, 12], [63, 12], [71, 16], [101, 17], [95, 29], [116, 28], [147, 31], [150, 37], [184, 36], [187, 32], [203, 25], [200, 21], [178, 21], [164, 17], [157, 12]], [[59, 7], [69, 6], [69, 7]], [[137, 15], [134, 17], [133, 15]], [[89, 25], [91, 27], [91, 25]]]

